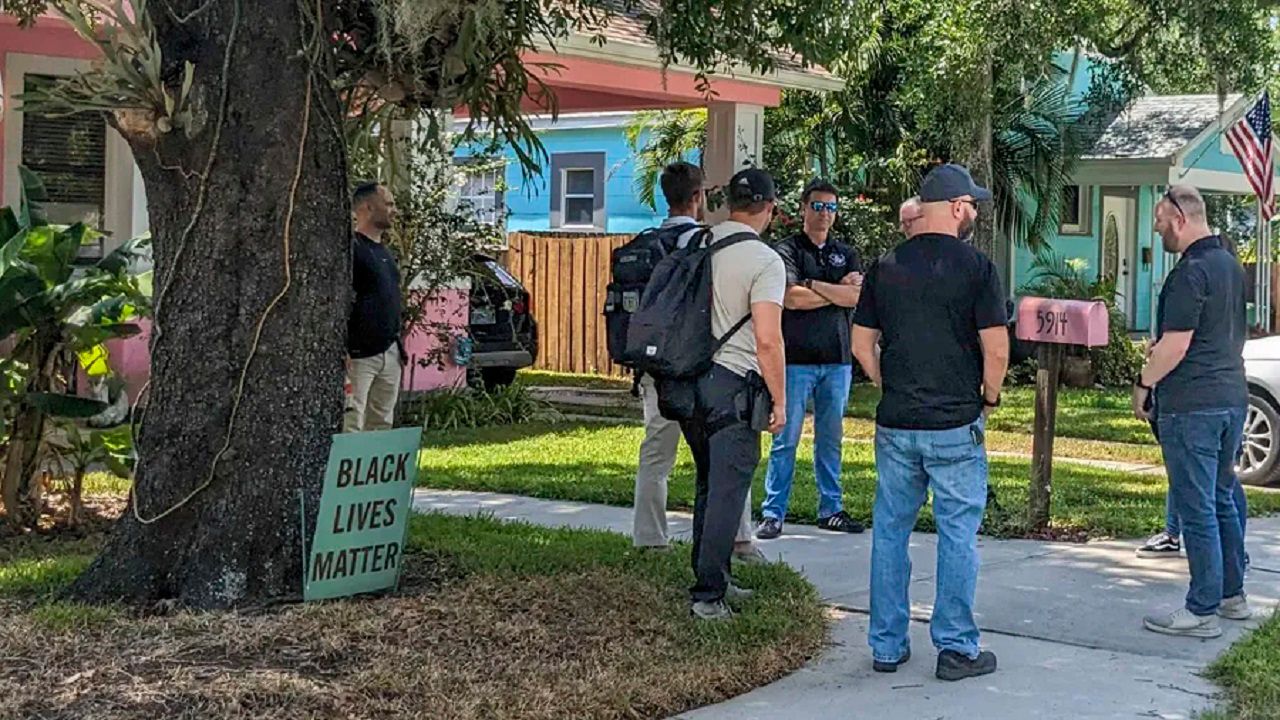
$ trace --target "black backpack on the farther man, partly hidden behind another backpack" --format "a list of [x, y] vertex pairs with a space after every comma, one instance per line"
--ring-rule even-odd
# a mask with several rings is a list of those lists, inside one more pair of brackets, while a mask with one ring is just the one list
[[669, 228], [649, 228], [613, 251], [609, 263], [611, 282], [604, 288], [604, 331], [609, 359], [614, 363], [628, 365], [623, 360], [627, 328], [654, 268], [676, 251], [680, 236], [698, 227], [700, 225], [696, 223], [685, 223]]

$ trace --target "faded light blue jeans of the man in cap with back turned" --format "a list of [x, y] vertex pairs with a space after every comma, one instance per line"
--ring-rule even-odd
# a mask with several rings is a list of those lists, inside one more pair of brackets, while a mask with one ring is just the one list
[[978, 587], [978, 527], [987, 507], [986, 419], [950, 430], [876, 428], [876, 507], [872, 511], [872, 618], [868, 644], [882, 662], [909, 650], [908, 544], [925, 491], [933, 488], [938, 528], [937, 592], [929, 634], [938, 651], [978, 656], [973, 598]]

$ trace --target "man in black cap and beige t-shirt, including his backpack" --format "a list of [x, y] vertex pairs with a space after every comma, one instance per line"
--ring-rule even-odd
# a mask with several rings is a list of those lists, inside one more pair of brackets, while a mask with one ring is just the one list
[[663, 416], [680, 420], [698, 468], [690, 610], [726, 620], [750, 591], [730, 575], [733, 536], [760, 462], [760, 432], [786, 424], [782, 258], [760, 240], [773, 178], [746, 169], [726, 187], [730, 218], [654, 268], [623, 359], [650, 373]]

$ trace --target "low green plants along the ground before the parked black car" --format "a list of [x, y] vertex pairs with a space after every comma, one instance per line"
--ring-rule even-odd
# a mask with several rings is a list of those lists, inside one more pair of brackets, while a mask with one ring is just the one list
[[421, 424], [428, 430], [483, 428], [486, 425], [518, 425], [522, 423], [554, 423], [559, 413], [550, 404], [534, 397], [522, 384], [492, 391], [449, 388], [422, 393], [410, 401], [403, 423]]

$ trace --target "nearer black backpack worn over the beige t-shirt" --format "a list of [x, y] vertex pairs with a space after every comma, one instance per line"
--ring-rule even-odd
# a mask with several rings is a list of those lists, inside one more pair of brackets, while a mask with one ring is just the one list
[[722, 337], [712, 333], [712, 255], [748, 241], [763, 242], [744, 232], [710, 245], [710, 231], [704, 231], [658, 263], [631, 315], [622, 361], [659, 386], [710, 370], [716, 352], [751, 319], [748, 313]]

